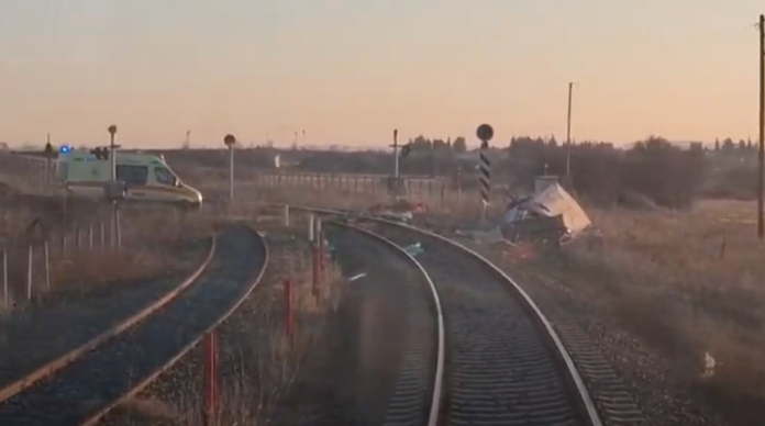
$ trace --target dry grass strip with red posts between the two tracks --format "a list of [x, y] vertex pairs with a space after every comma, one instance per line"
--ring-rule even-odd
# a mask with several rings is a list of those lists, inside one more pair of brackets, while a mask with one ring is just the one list
[[[325, 333], [330, 312], [337, 306], [343, 283], [339, 269], [325, 264], [319, 292], [314, 294], [310, 248], [300, 238], [307, 224], [300, 218], [287, 228], [280, 221], [274, 217], [258, 223], [257, 228], [265, 229], [270, 239], [270, 271], [220, 330], [224, 336], [220, 348], [220, 414], [208, 426], [269, 424], [306, 358]], [[293, 290], [291, 336], [284, 324], [286, 280]], [[179, 401], [135, 399], [125, 407], [155, 421], [171, 418], [173, 424], [184, 426], [204, 424], [202, 397], [197, 389], [189, 389]]]

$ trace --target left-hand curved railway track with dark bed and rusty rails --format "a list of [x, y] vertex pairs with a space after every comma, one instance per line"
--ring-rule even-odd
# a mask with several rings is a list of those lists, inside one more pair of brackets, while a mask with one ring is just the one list
[[66, 367], [0, 403], [0, 425], [93, 425], [224, 321], [268, 265], [263, 237], [232, 225], [218, 237], [197, 282], [142, 323], [112, 336]]

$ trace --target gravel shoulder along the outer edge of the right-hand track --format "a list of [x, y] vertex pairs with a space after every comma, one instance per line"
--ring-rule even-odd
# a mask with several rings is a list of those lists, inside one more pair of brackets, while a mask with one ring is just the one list
[[[447, 236], [486, 256], [532, 296], [554, 323], [596, 400], [603, 390], [609, 393], [617, 389], [623, 395], [620, 403], [634, 404], [644, 418], [643, 423], [636, 419], [634, 424], [736, 424], [706, 406], [656, 350], [621, 328], [614, 318], [599, 313], [587, 298], [567, 285], [565, 279], [557, 277], [550, 266], [535, 261], [513, 261], [502, 254], [501, 248]], [[588, 371], [591, 359], [605, 359], [611, 368]], [[598, 403], [601, 412], [608, 410], [608, 404], [602, 401]]]

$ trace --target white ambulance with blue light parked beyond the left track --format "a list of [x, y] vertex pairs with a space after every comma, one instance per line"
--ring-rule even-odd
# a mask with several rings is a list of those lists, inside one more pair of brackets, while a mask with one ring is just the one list
[[[98, 199], [111, 179], [108, 148], [62, 150], [57, 180], [74, 197]], [[117, 152], [117, 180], [125, 183], [126, 201], [171, 203], [201, 208], [202, 194], [184, 183], [165, 159], [144, 153]]]

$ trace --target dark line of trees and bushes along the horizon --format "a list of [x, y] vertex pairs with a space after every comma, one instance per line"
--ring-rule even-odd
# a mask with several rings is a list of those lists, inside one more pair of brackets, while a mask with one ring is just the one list
[[[410, 154], [400, 161], [403, 175], [446, 178], [451, 184], [465, 189], [477, 186], [476, 159], [462, 155], [467, 152], [464, 137], [417, 136], [408, 143]], [[273, 157], [277, 152], [271, 147], [242, 149], [237, 152], [237, 164], [258, 169], [273, 168]], [[713, 147], [708, 148], [701, 143], [680, 147], [651, 136], [624, 149], [598, 141], [573, 143], [567, 147], [554, 137], [515, 136], [495, 148], [492, 182], [507, 186], [511, 191], [528, 191], [539, 175], [563, 177], [568, 152], [572, 190], [578, 197], [601, 205], [632, 204], [639, 200], [685, 209], [700, 195], [750, 199], [756, 194], [756, 170], [743, 161], [756, 158], [756, 144], [751, 141], [734, 143], [731, 138], [716, 141]], [[393, 168], [390, 150], [292, 149], [281, 153], [282, 158], [298, 162], [298, 169], [306, 172], [389, 175]], [[209, 167], [228, 164], [223, 152], [210, 155], [190, 149], [167, 155]]]

